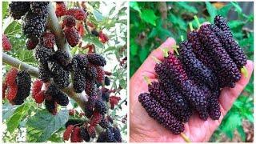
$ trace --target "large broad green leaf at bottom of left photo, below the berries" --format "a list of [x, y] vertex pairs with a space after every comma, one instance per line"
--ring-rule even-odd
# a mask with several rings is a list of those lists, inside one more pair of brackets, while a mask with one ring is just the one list
[[28, 142], [46, 142], [52, 134], [65, 125], [69, 118], [67, 110], [61, 110], [56, 115], [47, 110], [38, 111], [26, 122], [26, 140]]

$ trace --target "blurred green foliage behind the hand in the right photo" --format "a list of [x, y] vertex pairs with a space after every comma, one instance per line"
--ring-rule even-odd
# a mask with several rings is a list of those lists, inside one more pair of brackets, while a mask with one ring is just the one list
[[[194, 15], [199, 21], [213, 22], [215, 15], [228, 19], [234, 38], [254, 59], [253, 2], [130, 2], [130, 77], [142, 62], [168, 37], [186, 39]], [[226, 114], [210, 142], [253, 142], [254, 75], [234, 106]]]

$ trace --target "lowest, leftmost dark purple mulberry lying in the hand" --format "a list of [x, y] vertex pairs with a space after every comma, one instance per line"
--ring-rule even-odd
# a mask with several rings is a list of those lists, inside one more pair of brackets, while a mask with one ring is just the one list
[[138, 96], [138, 102], [142, 103], [142, 106], [151, 118], [157, 120], [173, 134], [180, 134], [184, 130], [182, 122], [179, 122], [174, 115], [163, 108], [159, 102], [150, 96], [150, 94], [140, 94]]

